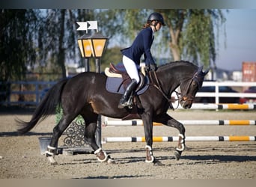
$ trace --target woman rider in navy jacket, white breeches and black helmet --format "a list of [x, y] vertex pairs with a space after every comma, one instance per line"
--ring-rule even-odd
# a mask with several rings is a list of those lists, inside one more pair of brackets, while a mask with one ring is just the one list
[[135, 37], [132, 46], [121, 50], [124, 67], [129, 77], [132, 79], [132, 82], [127, 86], [127, 90], [120, 99], [118, 108], [124, 108], [129, 105], [129, 96], [138, 85], [138, 69], [141, 55], [144, 54], [147, 71], [156, 71], [156, 63], [153, 60], [150, 48], [153, 43], [153, 33], [159, 31], [162, 25], [165, 25], [165, 22], [161, 13], [151, 13], [147, 18], [147, 23], [143, 26], [143, 29], [138, 33], [137, 37]]

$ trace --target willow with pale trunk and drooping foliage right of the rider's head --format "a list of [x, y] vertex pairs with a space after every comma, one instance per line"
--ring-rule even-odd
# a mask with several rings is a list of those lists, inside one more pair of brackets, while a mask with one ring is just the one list
[[225, 22], [222, 10], [159, 10], [168, 25], [168, 45], [174, 61], [192, 58], [210, 67], [216, 60], [216, 34], [214, 27]]

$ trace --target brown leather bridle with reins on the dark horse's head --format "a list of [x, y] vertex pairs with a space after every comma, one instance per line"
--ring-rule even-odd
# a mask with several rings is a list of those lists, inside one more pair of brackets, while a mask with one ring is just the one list
[[[195, 98], [195, 96], [192, 96], [190, 95], [189, 97], [187, 96], [184, 96], [182, 93], [178, 92], [178, 91], [174, 91], [177, 95], [177, 99], [172, 99], [172, 98], [169, 98], [168, 95], [162, 90], [162, 87], [161, 85], [159, 84], [159, 80], [158, 80], [158, 77], [156, 76], [156, 71], [153, 71], [153, 76], [154, 78], [156, 79], [156, 84], [153, 83], [153, 77], [152, 77], [152, 71], [149, 72], [149, 76], [150, 76], [150, 79], [151, 79], [151, 82], [149, 85], [153, 85], [153, 87], [155, 87], [160, 93], [162, 93], [162, 96], [165, 97], [165, 99], [168, 100], [168, 103], [169, 103], [169, 106], [170, 108], [172, 108], [173, 110], [174, 109], [177, 109], [180, 105], [180, 101], [189, 101], [189, 100], [193, 100]], [[185, 83], [185, 82], [189, 82], [189, 85], [188, 87], [186, 88], [186, 95], [188, 95], [187, 93], [189, 92], [189, 88], [192, 84], [193, 81], [195, 81], [197, 84], [198, 84], [198, 88], [201, 88], [201, 85], [202, 83], [199, 82], [199, 79], [201, 79], [201, 77], [199, 77], [199, 73], [198, 71], [194, 73], [194, 75], [192, 77], [189, 77], [188, 79], [185, 79], [182, 83]], [[181, 84], [180, 84], [181, 85]], [[177, 104], [177, 107], [174, 108], [172, 103], [171, 102], [174, 102], [174, 101], [178, 101], [178, 104]]]

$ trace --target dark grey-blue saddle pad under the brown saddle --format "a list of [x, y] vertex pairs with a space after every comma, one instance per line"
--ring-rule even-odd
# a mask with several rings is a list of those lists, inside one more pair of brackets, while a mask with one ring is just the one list
[[[124, 86], [123, 86], [122, 82], [123, 82], [122, 78], [107, 77], [106, 90], [111, 93], [124, 94]], [[142, 93], [144, 93], [144, 91], [147, 91], [147, 88], [149, 86], [149, 85], [147, 85], [148, 82], [149, 82], [148, 77], [146, 77], [143, 87], [139, 91], [136, 91], [137, 95], [141, 95]], [[119, 90], [118, 90], [118, 88], [119, 88]]]

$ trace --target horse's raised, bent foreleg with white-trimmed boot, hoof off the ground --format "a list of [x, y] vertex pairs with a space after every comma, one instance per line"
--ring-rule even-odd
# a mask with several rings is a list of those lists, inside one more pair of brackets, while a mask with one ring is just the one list
[[168, 126], [172, 126], [178, 129], [180, 132], [178, 144], [176, 150], [174, 151], [175, 159], [179, 160], [181, 153], [183, 152], [183, 150], [185, 150], [185, 128], [182, 123], [174, 119], [168, 120]]

